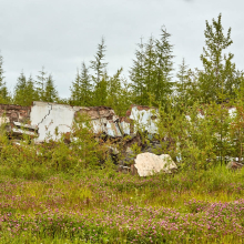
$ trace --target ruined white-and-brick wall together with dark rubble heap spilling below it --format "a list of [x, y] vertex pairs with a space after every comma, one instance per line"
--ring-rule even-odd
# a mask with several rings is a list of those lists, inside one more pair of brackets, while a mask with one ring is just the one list
[[[82, 119], [90, 121], [94, 138], [105, 135], [113, 141], [108, 151], [122, 171], [136, 172], [134, 160], [139, 152], [132, 150], [133, 145], [139, 146], [141, 152], [156, 153], [154, 149], [161, 149], [159, 142], [143, 144], [139, 133], [156, 133], [157, 110], [154, 108], [131, 105], [126, 116], [119, 118], [113, 109], [108, 106], [71, 106], [50, 102], [33, 102], [32, 106], [0, 104], [0, 124], [4, 124], [9, 139], [14, 144], [19, 144], [18, 140], [24, 135], [33, 139], [35, 143], [57, 141], [62, 134], [70, 135], [73, 123], [84, 124]], [[64, 141], [69, 143], [67, 136]], [[122, 148], [119, 149], [119, 144]], [[121, 155], [122, 160], [116, 160], [121, 159]], [[140, 163], [138, 166], [140, 172]], [[155, 170], [157, 171], [156, 166]]]

